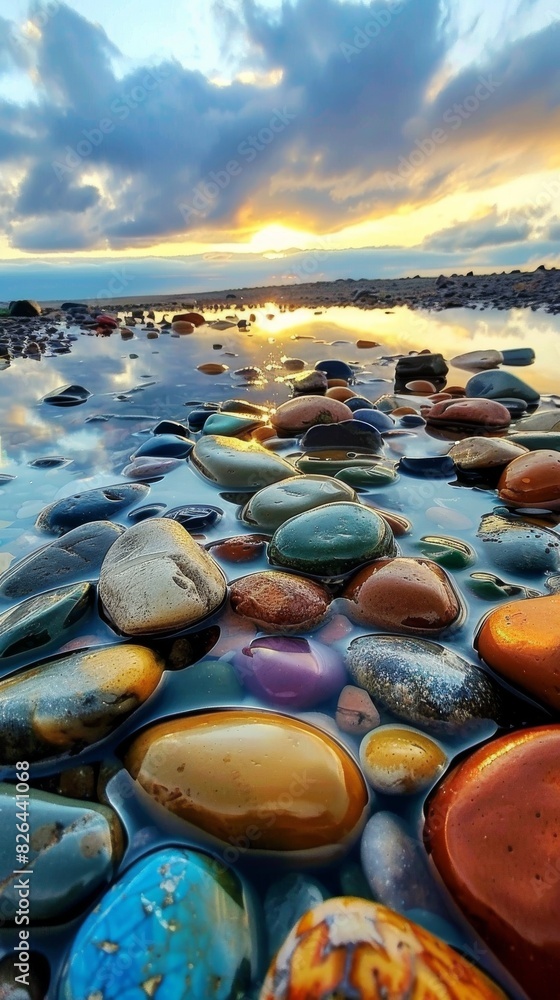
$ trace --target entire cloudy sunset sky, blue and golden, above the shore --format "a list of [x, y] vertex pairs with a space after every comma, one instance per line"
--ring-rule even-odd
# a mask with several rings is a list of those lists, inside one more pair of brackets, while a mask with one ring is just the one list
[[559, 52], [560, 0], [3, 0], [0, 299], [558, 266]]

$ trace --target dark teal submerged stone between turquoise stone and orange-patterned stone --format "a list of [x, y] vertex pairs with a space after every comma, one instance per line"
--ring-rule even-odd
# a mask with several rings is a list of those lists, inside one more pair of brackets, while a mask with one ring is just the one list
[[320, 882], [299, 872], [273, 882], [264, 900], [269, 954], [275, 955], [296, 921], [329, 895]]

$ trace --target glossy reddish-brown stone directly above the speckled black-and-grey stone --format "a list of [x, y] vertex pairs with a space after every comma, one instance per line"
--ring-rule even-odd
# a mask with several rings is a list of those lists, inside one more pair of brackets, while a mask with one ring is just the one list
[[463, 616], [450, 577], [429, 559], [377, 559], [342, 592], [348, 615], [386, 631], [436, 635]]

